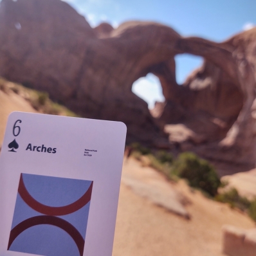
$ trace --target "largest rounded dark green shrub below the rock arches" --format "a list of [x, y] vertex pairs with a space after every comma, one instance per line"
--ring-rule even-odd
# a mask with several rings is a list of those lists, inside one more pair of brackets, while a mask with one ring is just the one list
[[210, 196], [215, 196], [221, 185], [214, 167], [192, 152], [179, 154], [174, 163], [173, 174], [187, 179], [191, 187], [200, 188]]

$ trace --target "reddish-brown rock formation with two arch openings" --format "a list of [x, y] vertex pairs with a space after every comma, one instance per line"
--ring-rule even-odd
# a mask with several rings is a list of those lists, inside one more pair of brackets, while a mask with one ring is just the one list
[[[166, 147], [164, 125], [183, 123], [203, 138], [188, 141], [189, 150], [255, 165], [256, 28], [216, 43], [158, 23], [93, 29], [60, 0], [3, 0], [0, 46], [1, 76], [48, 91], [81, 116], [126, 123], [128, 143]], [[179, 53], [205, 59], [182, 85], [175, 75]], [[131, 91], [147, 73], [163, 87], [158, 118]]]

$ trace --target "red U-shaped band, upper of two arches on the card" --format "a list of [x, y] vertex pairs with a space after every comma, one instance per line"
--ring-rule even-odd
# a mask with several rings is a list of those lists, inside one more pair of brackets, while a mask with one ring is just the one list
[[21, 179], [19, 181], [19, 188], [18, 188], [18, 192], [21, 195], [21, 198], [24, 200], [24, 202], [28, 206], [33, 208], [33, 210], [36, 210], [41, 214], [58, 215], [58, 216], [71, 214], [72, 212], [76, 212], [77, 210], [85, 206], [91, 200], [92, 190], [93, 190], [93, 181], [91, 181], [91, 185], [87, 189], [86, 193], [74, 203], [71, 203], [70, 205], [60, 206], [60, 207], [53, 207], [53, 206], [43, 205], [42, 203], [39, 203], [39, 201], [35, 200], [30, 195], [30, 193], [28, 192], [28, 190], [24, 185], [23, 174], [21, 174]]

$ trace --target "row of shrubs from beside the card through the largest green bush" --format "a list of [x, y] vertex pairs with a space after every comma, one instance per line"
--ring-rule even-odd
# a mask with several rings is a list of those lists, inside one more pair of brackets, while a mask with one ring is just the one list
[[179, 154], [178, 158], [174, 160], [172, 154], [167, 151], [151, 153], [140, 143], [133, 143], [131, 147], [136, 159], [140, 160], [142, 155], [146, 155], [149, 159], [149, 166], [163, 172], [169, 179], [187, 179], [191, 187], [202, 190], [208, 196], [214, 197], [222, 185], [214, 167], [192, 152]]

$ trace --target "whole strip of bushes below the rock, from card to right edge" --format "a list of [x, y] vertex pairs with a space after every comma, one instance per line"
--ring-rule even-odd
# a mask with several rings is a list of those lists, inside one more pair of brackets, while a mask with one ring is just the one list
[[218, 188], [225, 187], [228, 183], [221, 183], [217, 172], [208, 161], [192, 152], [181, 153], [174, 160], [172, 154], [167, 151], [151, 152], [140, 143], [133, 143], [131, 147], [134, 158], [142, 160], [146, 157], [149, 160], [143, 161], [144, 165], [147, 163], [148, 166], [163, 172], [172, 181], [179, 178], [187, 179], [188, 185], [201, 190], [205, 196], [221, 203], [228, 203], [232, 208], [239, 208], [256, 221], [256, 198], [250, 201], [240, 196], [235, 188], [218, 194]]

